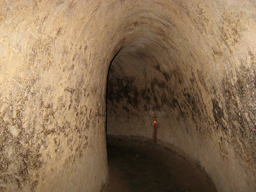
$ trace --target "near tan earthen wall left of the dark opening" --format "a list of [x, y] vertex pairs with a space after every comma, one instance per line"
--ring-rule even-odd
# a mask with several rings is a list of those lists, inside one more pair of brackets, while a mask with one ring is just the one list
[[99, 4], [0, 2], [0, 191], [100, 191], [106, 183], [113, 55]]

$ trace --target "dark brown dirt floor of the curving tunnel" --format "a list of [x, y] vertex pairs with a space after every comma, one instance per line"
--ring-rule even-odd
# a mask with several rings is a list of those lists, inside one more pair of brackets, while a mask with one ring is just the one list
[[164, 143], [108, 137], [109, 183], [104, 192], [216, 191], [196, 162]]

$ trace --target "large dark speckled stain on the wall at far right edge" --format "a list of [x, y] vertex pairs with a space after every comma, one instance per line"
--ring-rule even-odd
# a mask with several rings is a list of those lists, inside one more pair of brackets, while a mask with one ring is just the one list
[[[229, 142], [235, 145], [235, 152], [239, 156], [246, 161], [256, 162], [256, 149], [252, 147], [256, 145], [256, 75], [253, 65], [251, 66], [252, 68], [246, 67], [241, 62], [236, 74], [230, 74], [231, 77], [236, 75], [237, 80], [231, 82], [229, 77], [223, 78], [222, 91], [231, 130]], [[249, 159], [249, 156], [253, 159]]]

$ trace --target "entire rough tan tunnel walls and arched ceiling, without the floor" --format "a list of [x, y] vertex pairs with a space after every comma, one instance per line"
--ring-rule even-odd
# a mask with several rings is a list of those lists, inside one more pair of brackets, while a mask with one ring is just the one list
[[256, 189], [253, 0], [0, 2], [0, 190], [101, 191], [107, 137]]

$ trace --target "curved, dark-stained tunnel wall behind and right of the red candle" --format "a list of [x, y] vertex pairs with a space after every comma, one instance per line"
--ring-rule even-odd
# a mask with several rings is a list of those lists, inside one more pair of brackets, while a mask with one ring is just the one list
[[129, 15], [136, 40], [111, 63], [107, 135], [153, 139], [156, 119], [218, 191], [254, 191], [255, 3], [156, 4]]

